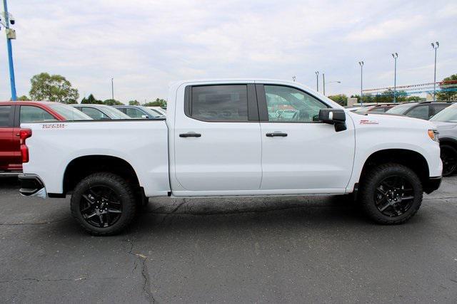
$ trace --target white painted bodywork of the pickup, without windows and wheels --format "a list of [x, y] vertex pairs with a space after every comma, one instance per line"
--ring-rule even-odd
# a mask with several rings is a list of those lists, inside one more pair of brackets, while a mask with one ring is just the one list
[[[366, 159], [379, 150], [421, 154], [429, 176], [441, 176], [439, 144], [427, 134], [431, 122], [388, 115], [346, 112], [347, 130], [325, 123], [206, 122], [187, 117], [187, 85], [270, 83], [330, 99], [299, 83], [281, 80], [189, 80], [169, 90], [166, 121], [106, 121], [24, 124], [30, 160], [48, 193], [63, 193], [64, 172], [77, 157], [109, 155], [131, 164], [146, 196], [249, 196], [344, 194], [352, 192]], [[62, 127], [57, 127], [62, 125]], [[266, 137], [267, 132], [287, 137]], [[179, 137], [199, 132], [202, 137]]]

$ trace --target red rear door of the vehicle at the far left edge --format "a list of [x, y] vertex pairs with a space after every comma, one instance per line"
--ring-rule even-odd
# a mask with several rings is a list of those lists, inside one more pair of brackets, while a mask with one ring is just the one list
[[11, 169], [16, 151], [13, 141], [14, 105], [0, 105], [0, 170]]

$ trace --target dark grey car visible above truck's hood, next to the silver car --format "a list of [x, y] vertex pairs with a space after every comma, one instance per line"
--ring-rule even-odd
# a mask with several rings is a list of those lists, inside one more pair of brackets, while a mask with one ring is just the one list
[[421, 103], [401, 103], [396, 105], [386, 112], [386, 114], [404, 115], [408, 117], [420, 118], [429, 120], [430, 117], [436, 115], [447, 108], [451, 103], [423, 101]]

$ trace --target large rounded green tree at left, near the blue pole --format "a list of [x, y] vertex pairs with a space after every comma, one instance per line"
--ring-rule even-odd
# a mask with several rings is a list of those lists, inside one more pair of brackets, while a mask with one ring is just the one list
[[30, 97], [34, 100], [49, 100], [57, 103], [76, 103], [78, 90], [71, 87], [69, 80], [62, 75], [40, 73], [30, 80]]

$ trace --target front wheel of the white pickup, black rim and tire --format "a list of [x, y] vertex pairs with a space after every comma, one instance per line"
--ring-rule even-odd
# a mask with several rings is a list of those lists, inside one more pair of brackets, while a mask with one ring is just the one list
[[402, 224], [422, 204], [422, 184], [413, 170], [401, 164], [383, 164], [363, 177], [360, 200], [376, 223]]

